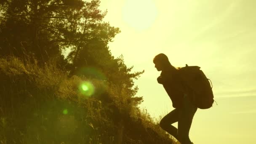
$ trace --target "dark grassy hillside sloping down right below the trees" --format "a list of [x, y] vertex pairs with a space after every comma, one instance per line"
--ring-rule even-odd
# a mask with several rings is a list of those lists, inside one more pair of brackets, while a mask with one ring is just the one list
[[[52, 62], [0, 58], [0, 144], [171, 144], [140, 97], [117, 85], [68, 77]], [[173, 142], [174, 144], [174, 142]]]

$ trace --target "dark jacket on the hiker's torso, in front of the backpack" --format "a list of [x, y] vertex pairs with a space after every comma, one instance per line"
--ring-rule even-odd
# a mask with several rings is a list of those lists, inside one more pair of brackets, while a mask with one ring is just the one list
[[165, 91], [168, 93], [174, 108], [182, 107], [182, 99], [186, 88], [183, 85], [176, 69], [162, 71], [161, 75], [157, 77], [157, 82], [163, 84]]

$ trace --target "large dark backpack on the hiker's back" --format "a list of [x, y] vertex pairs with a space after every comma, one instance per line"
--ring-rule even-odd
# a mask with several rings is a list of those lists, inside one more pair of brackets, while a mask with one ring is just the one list
[[186, 64], [186, 67], [178, 68], [178, 72], [184, 85], [192, 93], [193, 103], [200, 109], [212, 107], [214, 100], [211, 80], [205, 76], [200, 67]]

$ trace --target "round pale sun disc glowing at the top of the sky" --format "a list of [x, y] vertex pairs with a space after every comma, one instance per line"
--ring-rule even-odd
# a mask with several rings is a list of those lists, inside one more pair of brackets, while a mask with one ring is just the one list
[[138, 30], [152, 26], [157, 16], [153, 0], [126, 0], [123, 7], [123, 20]]

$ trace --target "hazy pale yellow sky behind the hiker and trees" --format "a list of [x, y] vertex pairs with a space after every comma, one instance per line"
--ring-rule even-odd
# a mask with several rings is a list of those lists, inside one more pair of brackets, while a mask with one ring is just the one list
[[104, 21], [122, 31], [109, 43], [134, 71], [141, 107], [167, 114], [171, 100], [152, 59], [165, 53], [176, 67], [198, 65], [213, 83], [218, 105], [198, 109], [195, 144], [256, 144], [256, 0], [102, 0]]

